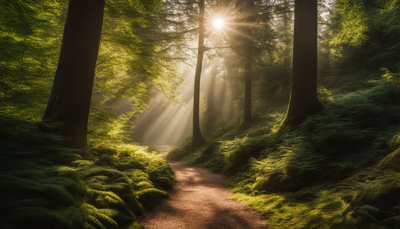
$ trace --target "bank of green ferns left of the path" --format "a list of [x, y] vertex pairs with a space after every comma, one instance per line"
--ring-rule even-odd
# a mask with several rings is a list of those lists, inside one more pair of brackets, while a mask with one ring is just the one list
[[174, 183], [174, 171], [145, 146], [98, 146], [83, 157], [40, 122], [0, 118], [2, 228], [130, 225]]

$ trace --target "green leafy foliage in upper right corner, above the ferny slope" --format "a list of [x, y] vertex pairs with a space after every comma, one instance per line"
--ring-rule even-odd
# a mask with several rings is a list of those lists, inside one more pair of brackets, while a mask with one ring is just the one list
[[[398, 0], [339, 1], [335, 5], [327, 42], [331, 63], [340, 81], [352, 75], [380, 76], [399, 71], [400, 9]], [[344, 28], [343, 23], [348, 26]], [[362, 73], [360, 71], [368, 71]], [[388, 71], [386, 71], [388, 69]], [[351, 74], [346, 74], [351, 72]], [[343, 74], [345, 73], [345, 74]], [[362, 74], [360, 74], [362, 73]], [[336, 74], [335, 74], [336, 75]], [[344, 76], [344, 77], [341, 77]], [[356, 80], [352, 80], [356, 83]]]

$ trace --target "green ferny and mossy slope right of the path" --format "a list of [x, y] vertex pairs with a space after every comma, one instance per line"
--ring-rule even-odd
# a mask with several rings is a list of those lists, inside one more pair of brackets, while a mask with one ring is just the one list
[[296, 128], [276, 130], [278, 107], [247, 129], [232, 125], [207, 146], [168, 157], [225, 174], [232, 198], [274, 229], [399, 228], [399, 91], [368, 85], [332, 96]]

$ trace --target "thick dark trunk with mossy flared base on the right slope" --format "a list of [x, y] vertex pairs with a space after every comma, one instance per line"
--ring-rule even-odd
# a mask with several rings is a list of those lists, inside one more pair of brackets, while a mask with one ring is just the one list
[[295, 0], [292, 89], [280, 127], [296, 126], [322, 108], [317, 96], [317, 0]]

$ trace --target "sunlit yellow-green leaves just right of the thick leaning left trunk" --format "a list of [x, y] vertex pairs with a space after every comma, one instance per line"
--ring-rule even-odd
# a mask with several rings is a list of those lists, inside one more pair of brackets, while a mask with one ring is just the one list
[[[92, 97], [90, 142], [127, 141], [123, 136], [129, 136], [130, 118], [146, 109], [153, 91], [178, 101], [177, 85], [181, 80], [171, 67], [168, 53], [160, 52], [168, 45], [158, 37], [161, 31], [154, 17], [161, 6], [160, 0], [106, 1]], [[121, 101], [129, 103], [120, 107]]]

